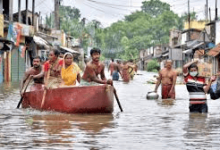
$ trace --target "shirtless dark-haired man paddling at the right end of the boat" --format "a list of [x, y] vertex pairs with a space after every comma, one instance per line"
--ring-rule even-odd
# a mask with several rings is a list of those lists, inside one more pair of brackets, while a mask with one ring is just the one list
[[[90, 51], [92, 61], [86, 64], [84, 74], [82, 76], [81, 85], [93, 85], [93, 84], [110, 84], [112, 85], [112, 80], [106, 80], [105, 77], [105, 65], [99, 62], [101, 50], [98, 48], [93, 48]], [[101, 79], [99, 78], [99, 75]]]

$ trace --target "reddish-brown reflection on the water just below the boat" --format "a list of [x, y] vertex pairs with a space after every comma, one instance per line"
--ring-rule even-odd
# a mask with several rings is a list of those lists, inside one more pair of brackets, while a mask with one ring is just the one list
[[[47, 138], [33, 140], [33, 143], [40, 144], [74, 144], [79, 134], [91, 137], [107, 136], [102, 132], [105, 128], [113, 128], [112, 114], [104, 115], [71, 115], [71, 114], [48, 114], [34, 115], [27, 119], [32, 132], [47, 133]], [[51, 138], [51, 137], [56, 137]], [[94, 144], [94, 142], [92, 142]], [[96, 143], [96, 142], [95, 142]], [[91, 144], [91, 141], [87, 141]]]

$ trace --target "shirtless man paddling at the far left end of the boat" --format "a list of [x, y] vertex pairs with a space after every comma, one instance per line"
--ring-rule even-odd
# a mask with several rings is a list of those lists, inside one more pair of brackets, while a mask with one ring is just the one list
[[[21, 95], [23, 95], [22, 89], [24, 88], [24, 83], [27, 82], [27, 79], [32, 78], [34, 75], [40, 74], [41, 71], [42, 71], [41, 58], [40, 58], [40, 56], [36, 56], [33, 59], [33, 67], [28, 69], [24, 74], [24, 78], [21, 82], [21, 91], [20, 91]], [[43, 84], [44, 84], [43, 77], [34, 79], [34, 86], [42, 88]], [[34, 86], [31, 86], [31, 87], [34, 87]]]

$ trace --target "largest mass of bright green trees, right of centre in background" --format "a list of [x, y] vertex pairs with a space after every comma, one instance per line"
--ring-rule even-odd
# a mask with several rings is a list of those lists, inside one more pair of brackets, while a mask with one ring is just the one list
[[139, 51], [167, 44], [171, 29], [183, 29], [184, 17], [170, 10], [170, 5], [159, 0], [144, 1], [142, 10], [125, 16], [124, 21], [96, 32], [95, 43], [105, 57], [138, 58]]

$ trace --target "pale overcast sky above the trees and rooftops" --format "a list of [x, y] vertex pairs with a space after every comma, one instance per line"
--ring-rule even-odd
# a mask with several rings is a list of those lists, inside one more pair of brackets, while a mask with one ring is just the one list
[[[66, 6], [74, 6], [80, 10], [81, 17], [87, 20], [96, 19], [102, 23], [104, 27], [110, 26], [113, 22], [121, 20], [125, 15], [140, 10], [143, 0], [63, 0], [62, 4]], [[161, 0], [171, 5], [171, 9], [179, 15], [188, 11], [188, 0]], [[220, 0], [218, 6], [220, 6]], [[25, 0], [21, 0], [21, 9], [25, 9]], [[211, 8], [212, 19], [214, 18], [215, 0], [208, 0]], [[190, 0], [190, 11], [198, 14], [198, 19], [204, 19], [206, 0]], [[14, 12], [18, 11], [18, 0], [14, 0]], [[32, 1], [29, 0], [29, 7], [32, 9]], [[219, 8], [220, 9], [220, 8]], [[35, 11], [41, 12], [45, 17], [54, 10], [54, 0], [35, 0]], [[220, 12], [219, 12], [220, 16]]]

